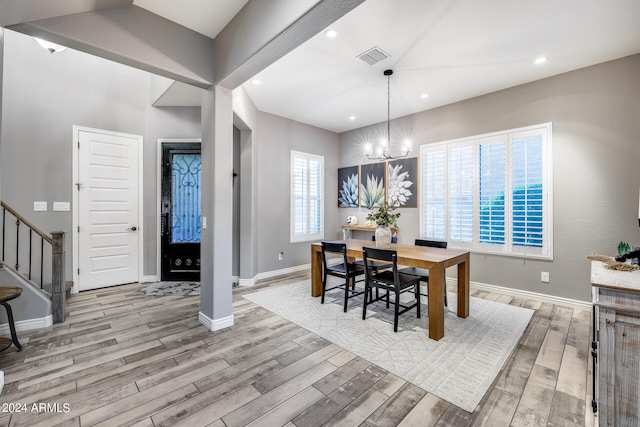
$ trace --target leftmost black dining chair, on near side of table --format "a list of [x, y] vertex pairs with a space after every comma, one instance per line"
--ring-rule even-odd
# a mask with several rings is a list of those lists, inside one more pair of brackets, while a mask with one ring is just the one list
[[[329, 265], [327, 255], [340, 256], [340, 262]], [[349, 262], [347, 259], [347, 245], [345, 243], [322, 242], [322, 298], [320, 302], [324, 304], [324, 295], [327, 291], [336, 288], [344, 288], [344, 312], [347, 312], [349, 298], [362, 294], [364, 291], [356, 290], [356, 277], [364, 274], [364, 266]], [[327, 278], [329, 276], [344, 279], [344, 283], [327, 288]], [[362, 281], [362, 280], [359, 280]]]

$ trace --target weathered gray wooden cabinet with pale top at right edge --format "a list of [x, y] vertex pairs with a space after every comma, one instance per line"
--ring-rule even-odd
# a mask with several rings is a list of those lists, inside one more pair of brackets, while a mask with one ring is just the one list
[[[640, 425], [640, 271], [591, 265], [600, 426]], [[595, 409], [595, 407], [594, 407]]]

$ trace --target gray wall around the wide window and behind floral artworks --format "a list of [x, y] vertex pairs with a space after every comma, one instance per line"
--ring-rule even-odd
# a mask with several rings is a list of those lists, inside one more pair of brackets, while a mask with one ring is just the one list
[[[419, 145], [553, 122], [553, 261], [472, 254], [471, 280], [581, 301], [591, 299], [592, 252], [640, 246], [640, 55], [393, 120]], [[340, 165], [363, 163], [361, 136], [340, 135]], [[340, 209], [340, 217], [366, 211]], [[418, 209], [402, 209], [400, 241], [419, 237]], [[550, 283], [540, 272], [550, 272]], [[452, 273], [451, 271], [449, 273]]]

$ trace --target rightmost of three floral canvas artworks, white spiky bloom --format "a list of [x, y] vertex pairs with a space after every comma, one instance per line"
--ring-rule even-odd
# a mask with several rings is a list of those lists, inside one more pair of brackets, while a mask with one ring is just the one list
[[387, 203], [395, 207], [417, 207], [418, 158], [393, 160], [388, 163]]

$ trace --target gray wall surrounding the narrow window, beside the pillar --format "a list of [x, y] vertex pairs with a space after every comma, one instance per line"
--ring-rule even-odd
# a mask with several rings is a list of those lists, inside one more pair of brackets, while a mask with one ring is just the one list
[[[260, 113], [258, 129], [258, 272], [308, 264], [309, 243], [289, 242], [291, 150], [324, 156], [325, 238], [335, 239], [340, 229], [333, 204], [338, 185], [338, 135], [267, 113]], [[278, 261], [278, 252], [284, 252], [283, 261]]]

